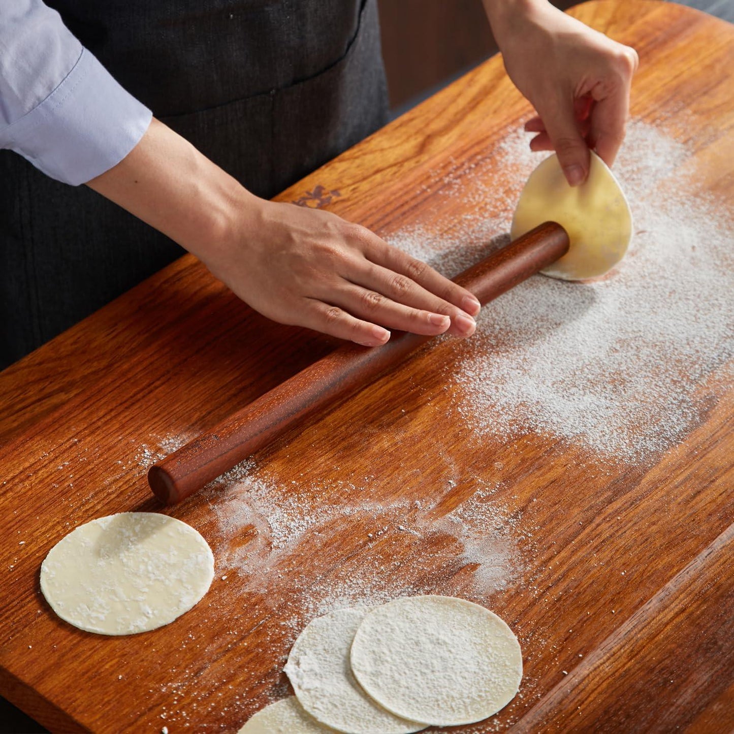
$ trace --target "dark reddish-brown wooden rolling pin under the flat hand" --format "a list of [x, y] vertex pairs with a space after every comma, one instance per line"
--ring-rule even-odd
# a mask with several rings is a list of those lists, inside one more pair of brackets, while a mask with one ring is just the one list
[[[558, 260], [568, 247], [561, 225], [545, 222], [454, 282], [484, 304]], [[374, 382], [430, 338], [393, 333], [384, 346], [338, 347], [150, 467], [150, 489], [165, 504], [181, 502], [309, 415]]]

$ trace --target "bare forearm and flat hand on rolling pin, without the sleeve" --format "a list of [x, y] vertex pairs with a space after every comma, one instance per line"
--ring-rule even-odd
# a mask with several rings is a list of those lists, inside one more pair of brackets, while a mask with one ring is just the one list
[[[473, 333], [479, 302], [370, 230], [260, 199], [159, 120], [88, 182], [192, 252], [264, 316], [366, 346], [389, 329]], [[386, 328], [385, 328], [386, 327]]]

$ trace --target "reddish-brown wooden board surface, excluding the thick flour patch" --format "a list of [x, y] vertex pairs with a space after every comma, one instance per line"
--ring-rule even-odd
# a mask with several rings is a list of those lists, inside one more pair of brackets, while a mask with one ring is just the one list
[[[734, 28], [653, 1], [572, 12], [639, 51], [633, 117], [664, 119], [692, 151], [702, 189], [730, 209]], [[470, 205], [446, 188], [473, 186], [472, 172], [529, 114], [490, 59], [280, 199], [388, 237], [447, 214], [458, 221]], [[521, 184], [508, 183], [497, 206]], [[482, 196], [493, 206], [490, 189]], [[520, 695], [466, 730], [734, 730], [727, 379], [708, 388], [706, 410], [675, 445], [615, 461], [548, 432], [469, 437], [453, 371], [486, 345], [438, 341], [227, 482], [164, 510], [199, 529], [217, 559], [214, 584], [188, 614], [123, 638], [54, 616], [38, 584], [54, 543], [94, 517], [161, 511], [145, 480], [157, 455], [334, 344], [269, 324], [186, 256], [0, 374], [1, 695], [55, 731], [234, 732], [285, 694], [294, 637], [354, 581], [366, 599], [473, 598], [515, 630]], [[262, 503], [280, 496], [278, 532], [291, 540], [275, 537], [272, 517], [270, 528], [256, 512], [250, 523], [249, 495], [261, 518]], [[446, 524], [479, 495], [499, 513], [491, 538], [505, 564], [484, 592], [481, 563]], [[424, 545], [411, 542], [416, 501], [437, 528]], [[288, 528], [313, 522], [308, 512], [325, 519]], [[514, 549], [506, 557], [503, 539]]]

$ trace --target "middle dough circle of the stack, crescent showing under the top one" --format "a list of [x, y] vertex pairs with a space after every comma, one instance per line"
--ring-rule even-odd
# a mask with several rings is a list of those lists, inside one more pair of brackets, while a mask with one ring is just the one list
[[299, 703], [322, 724], [349, 734], [409, 734], [426, 724], [405, 721], [371, 700], [349, 668], [349, 648], [366, 608], [313, 619], [291, 648], [286, 675]]

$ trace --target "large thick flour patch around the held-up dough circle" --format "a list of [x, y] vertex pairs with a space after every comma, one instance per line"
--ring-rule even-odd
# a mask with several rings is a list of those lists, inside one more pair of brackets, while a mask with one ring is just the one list
[[[716, 378], [731, 374], [734, 221], [690, 175], [673, 178], [687, 160], [658, 128], [631, 123], [614, 167], [633, 211], [630, 255], [595, 282], [533, 277], [484, 307], [472, 340], [453, 343], [449, 378], [470, 429], [505, 440], [539, 433], [638, 462], [700, 422]], [[508, 241], [512, 181], [519, 192], [538, 162], [522, 133], [509, 134], [486, 166], [442, 189], [476, 205], [473, 214], [388, 239], [460, 272]]]

